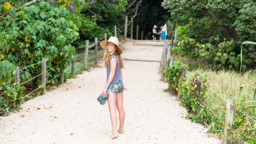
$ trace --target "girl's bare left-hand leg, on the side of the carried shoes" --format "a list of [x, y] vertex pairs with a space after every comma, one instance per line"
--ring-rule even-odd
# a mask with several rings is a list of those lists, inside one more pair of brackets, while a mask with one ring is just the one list
[[116, 131], [116, 125], [117, 125], [117, 117], [115, 112], [115, 100], [116, 100], [116, 94], [112, 93], [110, 89], [108, 89], [109, 97], [108, 97], [108, 104], [109, 104], [109, 113], [110, 113], [110, 119], [112, 124], [112, 136], [111, 139], [117, 138], [118, 133]]

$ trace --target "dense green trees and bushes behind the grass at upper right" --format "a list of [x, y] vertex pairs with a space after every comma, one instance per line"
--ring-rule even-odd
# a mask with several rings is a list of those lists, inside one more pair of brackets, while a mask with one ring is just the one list
[[[240, 69], [243, 41], [256, 41], [254, 0], [164, 0], [178, 26], [176, 54], [202, 57], [215, 69]], [[242, 69], [255, 67], [256, 49], [243, 49]]]

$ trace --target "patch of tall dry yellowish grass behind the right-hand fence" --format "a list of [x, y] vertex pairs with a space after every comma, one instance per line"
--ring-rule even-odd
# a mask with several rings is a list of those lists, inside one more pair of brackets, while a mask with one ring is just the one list
[[[211, 70], [210, 65], [197, 59], [175, 56], [176, 60], [187, 63], [192, 75], [199, 73], [202, 77], [207, 77], [207, 98], [206, 102], [213, 109], [224, 109], [226, 99], [234, 99], [237, 102], [239, 88], [242, 85], [256, 87], [256, 70], [250, 70], [245, 73], [239, 73], [231, 70]], [[187, 74], [189, 75], [189, 74]], [[214, 93], [211, 89], [216, 92]], [[253, 88], [243, 88], [242, 100], [252, 100], [254, 94]]]

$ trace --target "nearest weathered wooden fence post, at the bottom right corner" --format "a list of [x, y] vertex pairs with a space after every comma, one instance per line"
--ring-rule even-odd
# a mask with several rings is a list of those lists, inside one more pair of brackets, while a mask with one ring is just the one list
[[234, 110], [231, 108], [235, 100], [227, 99], [223, 144], [232, 144], [232, 132], [230, 131], [234, 121]]

